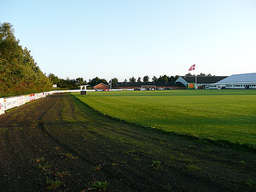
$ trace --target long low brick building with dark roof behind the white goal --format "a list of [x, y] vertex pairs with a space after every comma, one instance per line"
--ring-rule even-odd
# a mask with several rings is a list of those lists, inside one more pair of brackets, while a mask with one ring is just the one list
[[134, 89], [140, 90], [145, 88], [147, 90], [166, 90], [166, 89], [185, 89], [186, 86], [180, 82], [164, 82], [164, 81], [155, 81], [155, 82], [116, 82], [113, 86], [115, 89]]

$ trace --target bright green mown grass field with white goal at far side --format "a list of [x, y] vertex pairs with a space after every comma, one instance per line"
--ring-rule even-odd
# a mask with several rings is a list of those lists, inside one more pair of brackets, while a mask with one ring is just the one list
[[256, 90], [72, 93], [90, 107], [137, 125], [213, 141], [256, 145]]

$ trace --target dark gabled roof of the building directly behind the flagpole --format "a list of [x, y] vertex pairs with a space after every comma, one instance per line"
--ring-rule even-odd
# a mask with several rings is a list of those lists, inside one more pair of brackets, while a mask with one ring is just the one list
[[[195, 76], [180, 76], [188, 83], [195, 83]], [[221, 81], [228, 76], [196, 76], [196, 83], [198, 84], [211, 84]]]

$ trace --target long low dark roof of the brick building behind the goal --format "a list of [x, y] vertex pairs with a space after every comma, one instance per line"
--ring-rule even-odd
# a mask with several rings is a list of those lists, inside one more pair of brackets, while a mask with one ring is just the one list
[[155, 81], [155, 82], [116, 82], [117, 87], [141, 87], [141, 86], [184, 86], [180, 82], [164, 82], [164, 81]]

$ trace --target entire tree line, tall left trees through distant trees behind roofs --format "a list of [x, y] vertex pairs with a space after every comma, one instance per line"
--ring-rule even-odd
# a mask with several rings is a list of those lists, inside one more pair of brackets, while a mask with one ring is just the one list
[[[19, 43], [20, 41], [15, 38], [12, 25], [7, 22], [0, 23], [0, 97], [48, 91], [52, 90], [52, 84], [56, 84], [58, 88], [78, 89], [79, 86], [85, 84], [93, 86], [99, 83], [106, 85], [111, 83], [113, 86], [118, 82], [116, 77], [110, 81], [95, 77], [87, 82], [82, 77], [61, 79], [53, 73], [46, 76], [33, 59], [30, 50], [26, 47], [23, 49]], [[186, 76], [195, 75], [188, 73]], [[201, 73], [198, 76], [206, 76], [206, 74]], [[173, 82], [178, 78], [179, 75], [163, 75], [158, 78], [153, 76], [151, 81]], [[149, 79], [149, 76], [138, 77], [138, 79], [133, 76], [129, 78], [129, 82], [148, 82]], [[124, 82], [127, 82], [127, 79]]]

